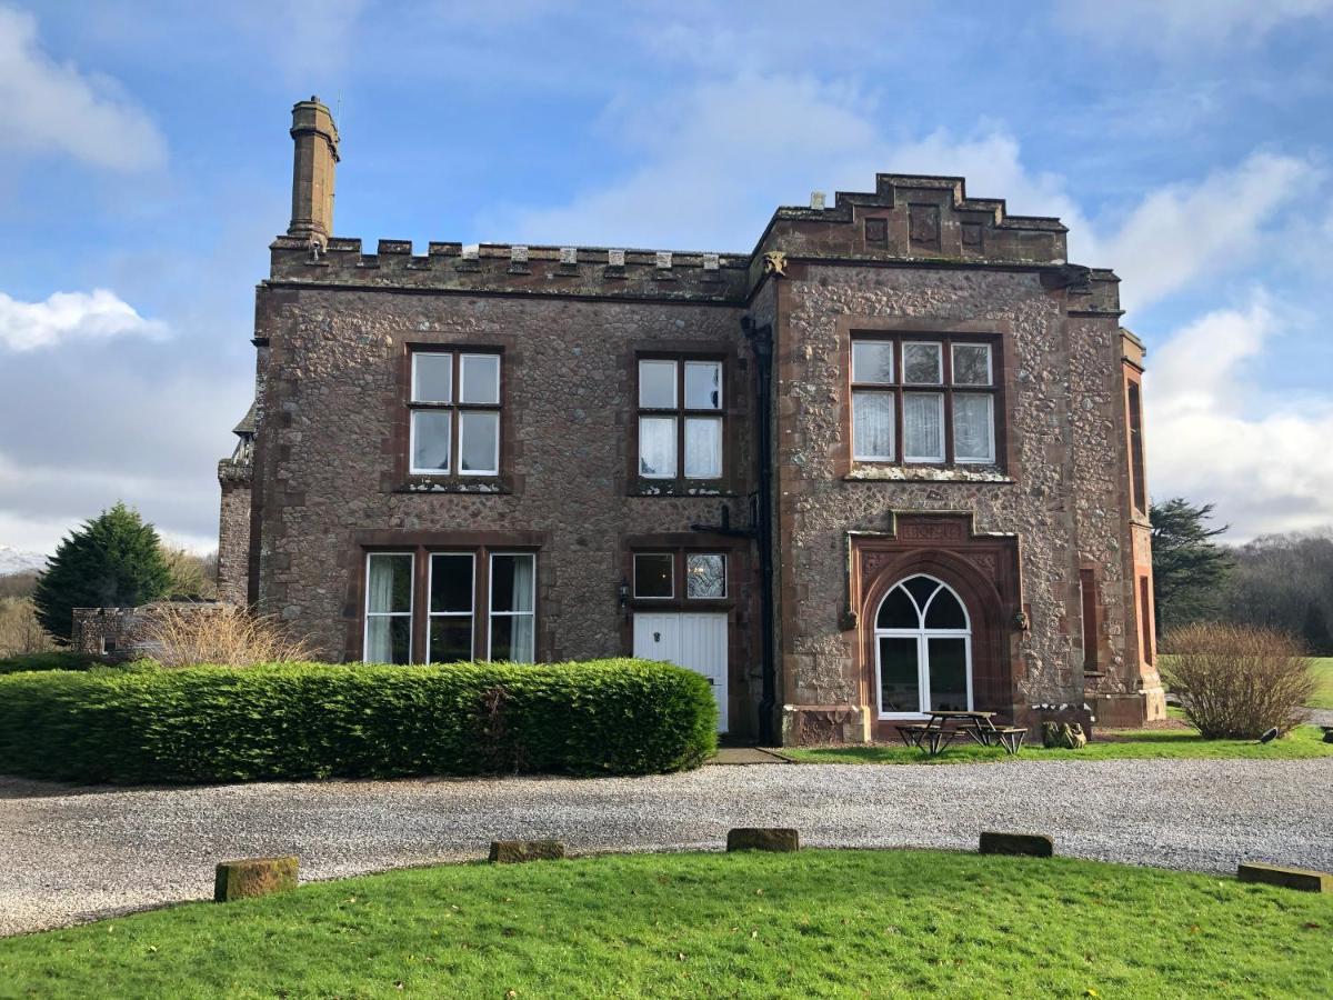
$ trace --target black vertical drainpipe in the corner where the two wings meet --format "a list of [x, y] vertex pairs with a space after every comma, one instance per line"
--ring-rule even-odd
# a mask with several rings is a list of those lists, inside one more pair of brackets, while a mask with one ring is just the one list
[[773, 628], [773, 325], [757, 327], [754, 320], [741, 320], [741, 329], [754, 352], [756, 420], [758, 431], [754, 451], [758, 457], [757, 489], [754, 497], [754, 528], [758, 543], [760, 567], [760, 653], [761, 697], [758, 703], [758, 739], [765, 747], [776, 743], [773, 715], [777, 707], [777, 664], [774, 660]]

